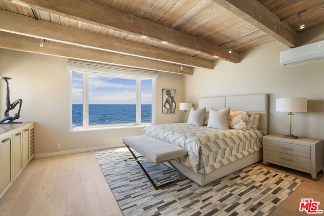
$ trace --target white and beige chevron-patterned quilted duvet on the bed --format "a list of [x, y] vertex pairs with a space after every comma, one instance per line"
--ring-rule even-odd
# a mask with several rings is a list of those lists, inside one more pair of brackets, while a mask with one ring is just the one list
[[179, 161], [203, 174], [261, 150], [263, 137], [257, 129], [224, 130], [186, 123], [151, 125], [142, 134], [187, 149], [188, 156]]

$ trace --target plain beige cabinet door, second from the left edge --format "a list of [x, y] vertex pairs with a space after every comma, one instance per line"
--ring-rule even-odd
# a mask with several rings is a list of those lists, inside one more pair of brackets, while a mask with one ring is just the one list
[[12, 145], [12, 159], [13, 159], [13, 177], [14, 181], [22, 168], [21, 164], [21, 132], [13, 135]]

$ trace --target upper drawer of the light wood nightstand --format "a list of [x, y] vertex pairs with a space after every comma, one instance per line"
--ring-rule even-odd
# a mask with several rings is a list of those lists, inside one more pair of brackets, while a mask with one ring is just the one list
[[310, 146], [302, 146], [274, 140], [266, 140], [265, 143], [267, 150], [310, 158]]

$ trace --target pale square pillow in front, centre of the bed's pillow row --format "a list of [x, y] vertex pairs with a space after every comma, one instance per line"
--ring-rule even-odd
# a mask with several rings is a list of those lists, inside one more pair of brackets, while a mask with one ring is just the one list
[[216, 129], [229, 129], [228, 128], [228, 117], [229, 117], [230, 108], [225, 109], [213, 109], [209, 111], [209, 118], [207, 127], [216, 128]]

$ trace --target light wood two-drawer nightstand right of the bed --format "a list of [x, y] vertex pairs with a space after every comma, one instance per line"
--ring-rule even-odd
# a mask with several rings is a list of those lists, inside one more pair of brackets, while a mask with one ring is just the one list
[[322, 140], [267, 135], [263, 137], [263, 163], [274, 163], [307, 172], [316, 181], [316, 174], [323, 168], [322, 148]]

